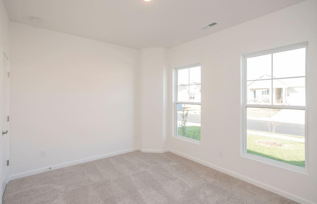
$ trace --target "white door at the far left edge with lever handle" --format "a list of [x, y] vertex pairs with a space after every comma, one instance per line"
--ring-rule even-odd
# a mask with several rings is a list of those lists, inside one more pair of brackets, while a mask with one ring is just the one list
[[1, 197], [5, 185], [9, 181], [9, 59], [1, 49], [1, 133], [0, 136], [0, 179], [1, 179]]

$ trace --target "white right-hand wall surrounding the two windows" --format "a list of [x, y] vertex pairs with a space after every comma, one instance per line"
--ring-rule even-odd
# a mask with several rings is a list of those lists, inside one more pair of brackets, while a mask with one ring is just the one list
[[[306, 41], [309, 42], [309, 175], [240, 156], [241, 55]], [[275, 192], [297, 201], [317, 203], [316, 56], [317, 1], [312, 0], [170, 49], [170, 68], [199, 62], [202, 65], [202, 136], [201, 145], [178, 140], [171, 137], [170, 126], [169, 149], [200, 159], [267, 189], [275, 189]], [[171, 104], [172, 99], [169, 101]], [[169, 119], [168, 124], [171, 124], [171, 111]], [[222, 149], [223, 157], [218, 156], [219, 149]]]

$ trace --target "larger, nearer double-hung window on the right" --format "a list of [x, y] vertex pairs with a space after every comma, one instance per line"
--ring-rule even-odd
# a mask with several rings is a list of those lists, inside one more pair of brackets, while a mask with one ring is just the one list
[[243, 57], [243, 156], [305, 171], [307, 44]]

